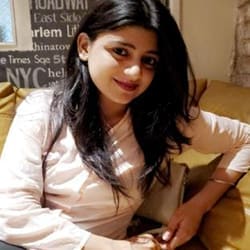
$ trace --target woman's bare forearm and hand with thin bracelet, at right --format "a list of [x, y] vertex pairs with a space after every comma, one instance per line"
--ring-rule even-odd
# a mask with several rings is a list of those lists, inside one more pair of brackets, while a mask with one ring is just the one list
[[[235, 183], [241, 176], [240, 172], [217, 168], [212, 175], [212, 181], [208, 181], [170, 218], [168, 229], [162, 235], [162, 239], [167, 241], [167, 249], [175, 249], [190, 240], [197, 233], [203, 215], [216, 204], [231, 183]], [[222, 182], [213, 181], [213, 179], [222, 180]]]

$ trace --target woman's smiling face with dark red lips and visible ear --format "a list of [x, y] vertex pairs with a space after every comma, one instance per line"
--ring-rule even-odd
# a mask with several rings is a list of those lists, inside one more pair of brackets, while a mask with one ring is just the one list
[[159, 60], [157, 37], [139, 26], [99, 34], [94, 41], [82, 33], [78, 52], [88, 61], [90, 76], [104, 108], [127, 106], [150, 85]]

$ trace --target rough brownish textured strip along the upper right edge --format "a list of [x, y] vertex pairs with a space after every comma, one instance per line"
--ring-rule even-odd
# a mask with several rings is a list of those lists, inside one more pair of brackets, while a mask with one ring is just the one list
[[250, 0], [237, 0], [231, 81], [250, 87]]

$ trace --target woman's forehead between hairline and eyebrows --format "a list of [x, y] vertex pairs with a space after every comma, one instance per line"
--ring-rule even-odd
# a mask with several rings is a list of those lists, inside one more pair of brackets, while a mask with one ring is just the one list
[[128, 43], [144, 50], [157, 50], [157, 35], [140, 26], [125, 26], [100, 33], [94, 42]]

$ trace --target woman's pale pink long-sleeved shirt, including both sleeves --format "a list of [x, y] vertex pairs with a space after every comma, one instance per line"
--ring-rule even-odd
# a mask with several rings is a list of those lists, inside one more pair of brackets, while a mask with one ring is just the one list
[[[0, 239], [29, 249], [81, 249], [90, 233], [122, 239], [142, 202], [137, 178], [144, 163], [129, 112], [110, 131], [116, 173], [131, 198], [120, 197], [81, 161], [71, 131], [64, 127], [48, 155], [46, 179], [42, 155], [50, 141], [51, 91], [37, 91], [19, 106], [1, 156]], [[246, 172], [250, 165], [250, 128], [236, 120], [201, 112], [187, 125], [192, 148], [225, 153], [219, 167]], [[153, 147], [153, 145], [152, 145]], [[46, 192], [46, 208], [40, 198]]]

